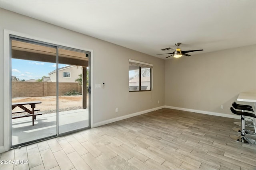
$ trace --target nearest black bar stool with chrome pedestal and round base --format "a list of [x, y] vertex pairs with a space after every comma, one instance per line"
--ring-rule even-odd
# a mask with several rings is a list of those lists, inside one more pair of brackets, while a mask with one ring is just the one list
[[[249, 112], [244, 112], [244, 111], [237, 111], [235, 110], [233, 107], [230, 107], [230, 110], [232, 111], [232, 113], [236, 114], [236, 115], [241, 115], [241, 129], [244, 127], [244, 116], [249, 116], [249, 117], [254, 117], [256, 118], [256, 115], [254, 115], [253, 113], [249, 113]], [[242, 143], [249, 143], [249, 144], [253, 144], [256, 145], [256, 141], [254, 139], [250, 139], [248, 137], [245, 137], [245, 133], [244, 130], [241, 130], [241, 135], [240, 136], [235, 136], [235, 137], [231, 137], [232, 139], [242, 142]]]

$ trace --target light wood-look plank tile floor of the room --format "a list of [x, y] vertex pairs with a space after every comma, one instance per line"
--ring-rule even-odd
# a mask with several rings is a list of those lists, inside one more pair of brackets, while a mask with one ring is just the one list
[[160, 109], [2, 153], [1, 170], [256, 170], [256, 146], [229, 138], [238, 119]]

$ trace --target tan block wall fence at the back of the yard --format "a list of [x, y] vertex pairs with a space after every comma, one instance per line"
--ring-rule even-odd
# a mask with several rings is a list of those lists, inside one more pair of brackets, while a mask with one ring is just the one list
[[[59, 82], [59, 95], [76, 90], [82, 92], [82, 86], [76, 82]], [[56, 82], [12, 82], [12, 98], [56, 96]]]

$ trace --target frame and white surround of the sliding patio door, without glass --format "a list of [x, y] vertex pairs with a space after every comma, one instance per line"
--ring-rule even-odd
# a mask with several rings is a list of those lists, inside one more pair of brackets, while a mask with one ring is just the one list
[[[17, 35], [18, 34], [18, 35]], [[82, 52], [85, 54], [88, 54], [88, 70], [89, 70], [89, 87], [91, 86], [91, 77], [92, 77], [92, 65], [91, 65], [91, 52], [92, 50], [82, 50], [82, 49], [76, 49], [74, 47], [68, 47], [68, 45], [59, 45], [60, 43], [47, 43], [49, 41], [41, 41], [40, 39], [35, 40], [34, 38], [28, 38], [28, 35], [20, 35], [20, 33], [12, 33], [12, 31], [8, 31], [8, 30], [4, 30], [4, 63], [5, 63], [5, 67], [4, 67], [4, 71], [5, 72], [5, 76], [4, 76], [4, 80], [8, 80], [5, 81], [4, 84], [4, 97], [6, 97], [7, 102], [4, 103], [4, 151], [7, 151], [9, 149], [13, 149], [16, 147], [20, 147], [20, 146], [26, 146], [26, 145], [30, 145], [32, 143], [37, 143], [38, 141], [44, 141], [46, 139], [50, 139], [50, 138], [54, 138], [54, 137], [58, 137], [58, 136], [63, 136], [63, 135], [67, 135], [70, 133], [74, 133], [77, 131], [81, 131], [81, 130], [85, 130], [85, 129], [89, 129], [91, 128], [91, 123], [93, 122], [93, 120], [91, 119], [91, 107], [92, 107], [92, 103], [91, 103], [91, 93], [89, 92], [89, 98], [88, 98], [88, 102], [89, 102], [89, 108], [88, 108], [88, 127], [84, 127], [81, 129], [76, 129], [73, 131], [69, 131], [66, 133], [59, 133], [59, 117], [58, 117], [58, 81], [56, 81], [56, 135], [52, 135], [49, 137], [45, 137], [42, 139], [38, 139], [38, 140], [34, 140], [34, 141], [29, 141], [26, 143], [21, 143], [18, 145], [14, 145], [12, 146], [12, 110], [11, 110], [11, 104], [12, 104], [12, 80], [11, 80], [11, 69], [12, 69], [12, 43], [11, 40], [12, 39], [16, 39], [18, 41], [23, 41], [23, 42], [27, 42], [27, 43], [32, 43], [32, 44], [37, 44], [37, 45], [43, 45], [43, 46], [48, 46], [48, 47], [54, 47], [56, 48], [56, 70], [58, 70], [58, 49], [62, 48], [62, 49], [68, 49], [68, 50], [73, 50], [73, 51], [78, 51], [78, 52]], [[7, 63], [7, 64], [6, 64]], [[7, 71], [8, 70], [8, 71]], [[7, 74], [6, 74], [7, 73]], [[58, 71], [56, 71], [56, 76], [57, 76], [57, 80], [58, 80]], [[85, 92], [86, 93], [86, 92]], [[86, 94], [87, 95], [87, 94]], [[12, 148], [10, 148], [12, 147]]]

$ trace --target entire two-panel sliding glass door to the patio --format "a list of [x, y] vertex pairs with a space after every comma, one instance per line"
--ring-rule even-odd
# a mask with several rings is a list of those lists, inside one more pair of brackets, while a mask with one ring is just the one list
[[11, 145], [90, 127], [90, 53], [11, 37]]

